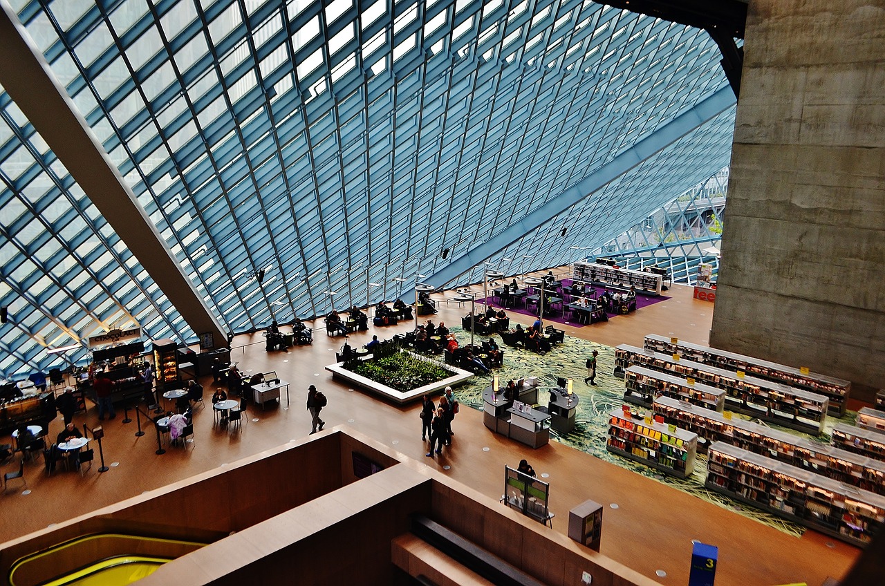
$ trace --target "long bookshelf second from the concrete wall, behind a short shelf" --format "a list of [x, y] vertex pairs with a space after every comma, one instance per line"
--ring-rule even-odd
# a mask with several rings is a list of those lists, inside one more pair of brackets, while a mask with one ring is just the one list
[[727, 393], [726, 408], [751, 417], [771, 421], [815, 436], [823, 432], [828, 399], [807, 390], [790, 389], [778, 382], [706, 366], [678, 356], [647, 351], [621, 344], [615, 348], [615, 374], [630, 366], [693, 378]]

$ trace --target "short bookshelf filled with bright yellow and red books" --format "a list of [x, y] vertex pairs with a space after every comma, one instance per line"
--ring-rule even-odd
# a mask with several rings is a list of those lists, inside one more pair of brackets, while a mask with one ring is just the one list
[[609, 413], [609, 437], [605, 449], [634, 459], [665, 474], [685, 478], [695, 470], [697, 434], [627, 413]]

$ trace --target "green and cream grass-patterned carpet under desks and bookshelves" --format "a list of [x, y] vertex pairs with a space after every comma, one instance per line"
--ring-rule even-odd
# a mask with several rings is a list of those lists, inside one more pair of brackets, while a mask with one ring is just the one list
[[[452, 328], [452, 332], [456, 335], [458, 343], [461, 345], [470, 343], [470, 332], [464, 332], [461, 328]], [[485, 339], [486, 336], [477, 335], [475, 336], [475, 343], [479, 344]], [[704, 479], [707, 462], [704, 455], [697, 455], [695, 473], [685, 480], [680, 480], [660, 474], [654, 468], [643, 466], [630, 459], [621, 458], [605, 450], [605, 440], [608, 435], [607, 413], [611, 412], [612, 409], [620, 410], [620, 406], [624, 403], [624, 381], [612, 374], [614, 370], [614, 349], [612, 347], [566, 336], [566, 343], [554, 347], [546, 355], [540, 356], [534, 352], [504, 346], [500, 336], [496, 336], [496, 342], [501, 344], [501, 347], [504, 349], [504, 366], [496, 369], [493, 373], [498, 375], [502, 387], [510, 379], [518, 380], [519, 378], [537, 376], [541, 389], [538, 395], [538, 402], [540, 405], [547, 405], [549, 389], [557, 386], [556, 380], [558, 377], [571, 378], [573, 380], [573, 391], [580, 396], [575, 429], [572, 433], [566, 435], [560, 435], [553, 429], [550, 429], [550, 437], [552, 439], [578, 450], [586, 451], [596, 456], [596, 458], [604, 459], [632, 470], [636, 474], [643, 474], [643, 476], [648, 476], [658, 480], [658, 482], [664, 482], [676, 489], [723, 506], [735, 513], [750, 517], [750, 519], [766, 523], [766, 525], [781, 529], [781, 531], [791, 535], [800, 536], [804, 532], [805, 529], [799, 525], [738, 503], [717, 492], [706, 490], [704, 488]], [[591, 387], [584, 383], [584, 377], [587, 376], [585, 364], [592, 350], [599, 351], [596, 387]], [[489, 383], [490, 377], [474, 377], [471, 381], [457, 389], [458, 400], [464, 405], [472, 406], [474, 409], [481, 411], [482, 390], [488, 387]], [[750, 419], [739, 413], [734, 413], [734, 416], [735, 418], [745, 420]], [[853, 424], [856, 418], [857, 413], [854, 412], [847, 412], [842, 419], [835, 419], [832, 416], [827, 417], [827, 430], [840, 422]], [[755, 420], [755, 422], [768, 427], [778, 428], [797, 436], [810, 437], [793, 429], [781, 428], [759, 420]], [[819, 439], [829, 443], [828, 434], [820, 436]]]

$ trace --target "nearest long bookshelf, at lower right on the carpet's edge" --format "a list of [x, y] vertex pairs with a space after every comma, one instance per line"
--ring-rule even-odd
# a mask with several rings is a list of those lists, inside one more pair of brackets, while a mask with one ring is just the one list
[[722, 442], [710, 446], [704, 485], [860, 546], [885, 520], [881, 495]]

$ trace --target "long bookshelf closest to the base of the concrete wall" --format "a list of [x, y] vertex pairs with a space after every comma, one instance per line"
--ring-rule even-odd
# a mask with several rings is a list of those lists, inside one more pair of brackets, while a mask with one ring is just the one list
[[[724, 370], [743, 371], [756, 378], [766, 381], [781, 382], [796, 389], [809, 390], [812, 393], [824, 395], [829, 398], [829, 413], [842, 417], [845, 414], [845, 400], [848, 398], [851, 383], [832, 376], [817, 373], [803, 374], [799, 368], [784, 366], [776, 362], [754, 359], [743, 354], [727, 352], [718, 348], [702, 346], [700, 344], [676, 341], [663, 335], [649, 334], [645, 336], [643, 346], [645, 350], [661, 352], [662, 354], [679, 354], [680, 356], [700, 362], [701, 364], [716, 366]], [[885, 400], [885, 397], [883, 397]]]

